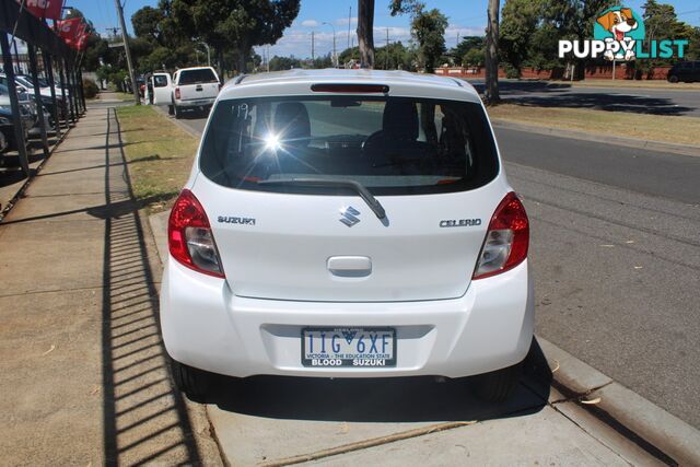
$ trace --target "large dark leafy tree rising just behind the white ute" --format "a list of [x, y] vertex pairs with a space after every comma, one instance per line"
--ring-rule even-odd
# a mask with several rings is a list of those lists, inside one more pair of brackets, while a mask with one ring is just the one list
[[213, 47], [220, 73], [224, 52], [236, 50], [238, 72], [254, 46], [275, 44], [299, 14], [300, 0], [172, 0], [179, 31]]

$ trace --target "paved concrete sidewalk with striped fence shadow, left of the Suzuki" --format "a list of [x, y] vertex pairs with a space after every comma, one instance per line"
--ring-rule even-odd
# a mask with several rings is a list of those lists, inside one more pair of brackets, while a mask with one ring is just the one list
[[0, 464], [221, 463], [166, 372], [137, 208], [93, 107], [0, 224]]

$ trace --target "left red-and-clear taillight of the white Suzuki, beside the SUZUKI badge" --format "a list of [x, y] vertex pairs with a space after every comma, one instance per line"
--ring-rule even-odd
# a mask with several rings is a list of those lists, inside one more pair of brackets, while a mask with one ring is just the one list
[[198, 272], [223, 278], [209, 219], [195, 195], [184, 189], [167, 221], [167, 246], [178, 262]]

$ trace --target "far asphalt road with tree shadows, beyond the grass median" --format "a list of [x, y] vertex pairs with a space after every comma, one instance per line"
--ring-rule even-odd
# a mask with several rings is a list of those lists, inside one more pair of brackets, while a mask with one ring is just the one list
[[[483, 92], [483, 80], [469, 80]], [[575, 107], [653, 115], [700, 117], [697, 90], [583, 87], [565, 82], [499, 80], [501, 97], [522, 105]]]

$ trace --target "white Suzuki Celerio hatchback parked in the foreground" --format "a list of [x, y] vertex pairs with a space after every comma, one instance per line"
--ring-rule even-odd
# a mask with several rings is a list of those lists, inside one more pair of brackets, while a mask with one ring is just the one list
[[533, 338], [529, 227], [478, 94], [434, 75], [294, 70], [219, 95], [168, 223], [163, 339], [210, 373], [480, 375]]

